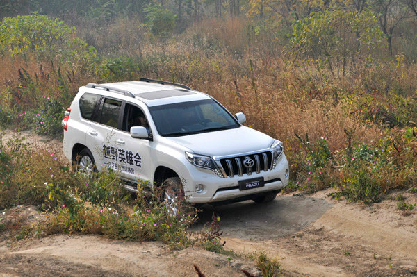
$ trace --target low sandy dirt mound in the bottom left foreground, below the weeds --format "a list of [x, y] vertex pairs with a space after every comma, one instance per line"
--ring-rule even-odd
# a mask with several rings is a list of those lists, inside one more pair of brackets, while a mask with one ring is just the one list
[[93, 235], [54, 235], [16, 248], [0, 247], [0, 276], [260, 276], [253, 262], [159, 242], [124, 242]]

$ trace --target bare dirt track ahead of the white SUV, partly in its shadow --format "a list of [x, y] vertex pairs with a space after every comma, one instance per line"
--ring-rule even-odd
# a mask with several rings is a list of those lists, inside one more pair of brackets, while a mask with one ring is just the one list
[[227, 249], [264, 251], [302, 276], [417, 276], [414, 213], [404, 217], [395, 201], [370, 207], [326, 194], [208, 208], [202, 218], [222, 217]]

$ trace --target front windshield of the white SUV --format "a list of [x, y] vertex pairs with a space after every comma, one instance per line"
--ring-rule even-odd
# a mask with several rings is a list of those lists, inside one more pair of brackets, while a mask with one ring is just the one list
[[239, 124], [213, 99], [149, 108], [159, 135], [178, 137], [238, 128]]

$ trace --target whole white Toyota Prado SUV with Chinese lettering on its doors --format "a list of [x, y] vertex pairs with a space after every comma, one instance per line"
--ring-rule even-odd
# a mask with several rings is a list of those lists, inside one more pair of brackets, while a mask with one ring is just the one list
[[84, 171], [117, 170], [132, 192], [149, 181], [191, 203], [272, 201], [288, 184], [282, 143], [245, 120], [186, 85], [90, 83], [65, 112], [63, 149]]

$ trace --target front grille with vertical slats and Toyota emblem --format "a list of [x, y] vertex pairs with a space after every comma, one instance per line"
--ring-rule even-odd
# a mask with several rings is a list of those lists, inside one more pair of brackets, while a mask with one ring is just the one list
[[[244, 162], [247, 158], [253, 160], [252, 167], [246, 167]], [[221, 159], [220, 163], [227, 176], [235, 175], [243, 176], [243, 174], [251, 175], [253, 172], [268, 171], [272, 166], [272, 153], [270, 151], [255, 153], [252, 155], [244, 155], [232, 158]]]

